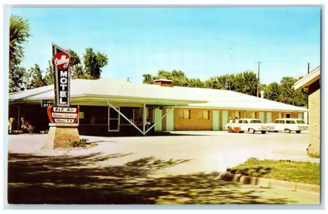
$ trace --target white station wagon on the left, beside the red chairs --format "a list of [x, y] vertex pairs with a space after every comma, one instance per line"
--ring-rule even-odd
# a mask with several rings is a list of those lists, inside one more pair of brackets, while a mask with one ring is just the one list
[[[226, 124], [226, 130], [229, 129], [230, 124]], [[267, 133], [268, 131], [274, 131], [275, 125], [273, 123], [262, 123], [259, 119], [254, 118], [244, 118], [240, 119], [238, 123], [240, 133], [250, 132], [254, 134], [255, 132], [261, 132], [262, 134]]]

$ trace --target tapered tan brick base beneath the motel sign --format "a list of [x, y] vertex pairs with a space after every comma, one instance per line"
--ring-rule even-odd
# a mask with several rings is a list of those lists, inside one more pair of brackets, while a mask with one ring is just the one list
[[49, 123], [49, 126], [48, 138], [44, 146], [46, 149], [65, 147], [69, 140], [79, 140], [78, 124]]

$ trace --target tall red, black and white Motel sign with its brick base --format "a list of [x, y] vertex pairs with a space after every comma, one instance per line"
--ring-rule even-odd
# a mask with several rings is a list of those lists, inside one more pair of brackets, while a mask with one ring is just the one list
[[70, 141], [79, 140], [78, 124], [75, 124], [79, 110], [70, 107], [70, 63], [70, 53], [52, 43], [54, 100], [43, 100], [41, 103], [47, 107], [50, 120], [45, 148], [64, 147]]

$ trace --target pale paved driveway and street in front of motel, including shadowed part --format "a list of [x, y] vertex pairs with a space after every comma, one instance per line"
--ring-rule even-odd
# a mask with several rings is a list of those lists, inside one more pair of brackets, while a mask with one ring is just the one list
[[[40, 149], [46, 137], [9, 136], [9, 199], [12, 202], [319, 203], [319, 194], [312, 192], [263, 189], [217, 179], [227, 167], [250, 157], [313, 161], [300, 155], [272, 153], [304, 151], [308, 146], [306, 133], [80, 136], [97, 142], [98, 146], [69, 152]], [[51, 194], [49, 190], [53, 190]]]

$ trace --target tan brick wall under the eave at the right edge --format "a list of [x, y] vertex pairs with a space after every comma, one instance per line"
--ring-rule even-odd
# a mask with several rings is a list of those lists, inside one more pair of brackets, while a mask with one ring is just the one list
[[320, 153], [320, 84], [309, 87], [309, 153]]

